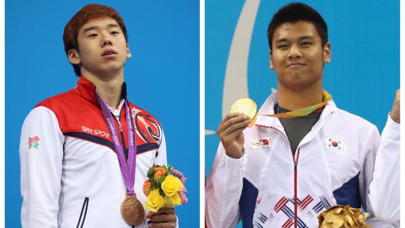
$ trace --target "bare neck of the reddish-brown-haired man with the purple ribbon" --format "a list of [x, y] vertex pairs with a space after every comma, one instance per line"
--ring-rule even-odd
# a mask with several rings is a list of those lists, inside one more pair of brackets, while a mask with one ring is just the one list
[[96, 85], [96, 93], [108, 106], [115, 108], [119, 104], [123, 93], [123, 70], [114, 73], [114, 75], [103, 76], [82, 70], [82, 75]]

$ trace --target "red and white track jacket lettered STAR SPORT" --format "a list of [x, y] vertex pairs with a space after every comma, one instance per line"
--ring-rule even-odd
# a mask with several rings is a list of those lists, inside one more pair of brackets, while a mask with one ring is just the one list
[[[121, 217], [126, 184], [95, 89], [80, 77], [72, 90], [37, 104], [25, 119], [20, 140], [22, 227], [131, 227]], [[125, 84], [123, 91], [125, 99]], [[165, 137], [156, 118], [129, 105], [136, 127], [135, 193], [144, 204], [148, 168], [167, 164]], [[119, 110], [114, 115], [128, 148], [125, 108]], [[136, 227], [148, 227], [147, 219]]]

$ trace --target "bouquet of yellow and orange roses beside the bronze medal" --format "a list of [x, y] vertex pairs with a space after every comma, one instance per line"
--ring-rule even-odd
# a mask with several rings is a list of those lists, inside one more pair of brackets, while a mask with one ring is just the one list
[[186, 177], [172, 166], [155, 165], [149, 168], [148, 179], [143, 182], [143, 193], [147, 196], [145, 207], [152, 212], [160, 208], [187, 203]]

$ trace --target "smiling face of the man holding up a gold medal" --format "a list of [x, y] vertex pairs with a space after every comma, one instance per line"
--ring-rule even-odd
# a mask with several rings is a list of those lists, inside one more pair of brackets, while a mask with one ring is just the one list
[[323, 63], [331, 61], [330, 47], [329, 43], [322, 47], [311, 22], [281, 24], [273, 35], [270, 69], [280, 84], [293, 90], [321, 84]]

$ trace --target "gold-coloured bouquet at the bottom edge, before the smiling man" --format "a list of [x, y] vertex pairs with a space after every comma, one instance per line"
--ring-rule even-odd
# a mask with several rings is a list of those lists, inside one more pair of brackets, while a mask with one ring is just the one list
[[318, 215], [319, 228], [369, 228], [365, 220], [369, 213], [362, 213], [359, 208], [349, 205], [336, 205]]

